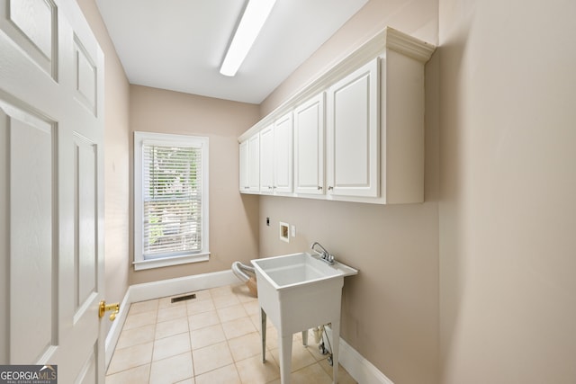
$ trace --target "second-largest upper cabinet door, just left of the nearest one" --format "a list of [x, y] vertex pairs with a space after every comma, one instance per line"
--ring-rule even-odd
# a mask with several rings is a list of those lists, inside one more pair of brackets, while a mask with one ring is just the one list
[[296, 193], [324, 193], [324, 103], [322, 92], [294, 110]]

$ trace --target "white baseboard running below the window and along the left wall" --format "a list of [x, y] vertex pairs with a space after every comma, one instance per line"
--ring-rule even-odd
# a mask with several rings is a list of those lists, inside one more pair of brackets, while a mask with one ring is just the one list
[[234, 284], [236, 282], [239, 282], [238, 278], [231, 270], [228, 270], [130, 285], [124, 295], [124, 299], [122, 299], [120, 312], [116, 315], [116, 320], [112, 323], [112, 327], [106, 336], [106, 370], [112, 360], [112, 353], [114, 352], [114, 348], [116, 348], [116, 344], [120, 338], [122, 326], [124, 326], [124, 322], [128, 316], [128, 310], [130, 309], [131, 303], [166, 298], [168, 296], [181, 295], [196, 290], [208, 290], [210, 288]]

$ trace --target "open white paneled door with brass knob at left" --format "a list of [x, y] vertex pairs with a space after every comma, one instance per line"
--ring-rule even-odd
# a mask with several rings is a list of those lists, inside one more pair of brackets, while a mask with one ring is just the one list
[[0, 253], [0, 363], [103, 383], [103, 53], [73, 0], [0, 0]]

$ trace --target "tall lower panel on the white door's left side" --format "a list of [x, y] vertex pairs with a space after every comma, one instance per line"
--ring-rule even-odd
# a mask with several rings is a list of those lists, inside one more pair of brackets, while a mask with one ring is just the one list
[[[10, 199], [10, 362], [36, 361], [55, 344], [52, 125], [0, 101]], [[26, 148], [26, 150], [22, 150]], [[17, 276], [17, 277], [16, 277]]]

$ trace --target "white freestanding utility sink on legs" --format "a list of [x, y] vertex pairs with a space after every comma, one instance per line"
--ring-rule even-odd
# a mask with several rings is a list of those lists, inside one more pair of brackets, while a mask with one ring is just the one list
[[262, 361], [266, 362], [266, 318], [278, 331], [282, 384], [290, 382], [293, 334], [331, 323], [334, 383], [338, 380], [340, 301], [346, 276], [358, 271], [343, 263], [329, 264], [308, 253], [252, 260], [257, 274], [262, 315]]

